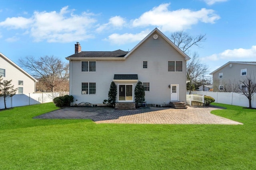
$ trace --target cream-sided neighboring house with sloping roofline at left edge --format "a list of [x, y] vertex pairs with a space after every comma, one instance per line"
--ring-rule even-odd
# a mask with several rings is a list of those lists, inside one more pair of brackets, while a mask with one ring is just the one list
[[12, 80], [16, 94], [34, 93], [37, 80], [20, 68], [17, 64], [0, 53], [0, 75], [3, 80]]

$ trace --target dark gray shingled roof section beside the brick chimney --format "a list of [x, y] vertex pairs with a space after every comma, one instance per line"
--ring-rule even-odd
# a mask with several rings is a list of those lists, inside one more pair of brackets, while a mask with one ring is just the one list
[[81, 51], [68, 56], [67, 58], [75, 57], [124, 57], [128, 51], [116, 50], [116, 51]]

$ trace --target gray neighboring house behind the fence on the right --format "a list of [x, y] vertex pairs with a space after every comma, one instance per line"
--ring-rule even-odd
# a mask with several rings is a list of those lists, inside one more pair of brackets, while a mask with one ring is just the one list
[[238, 86], [246, 88], [239, 81], [256, 76], [256, 62], [230, 61], [210, 74], [214, 92], [239, 92]]

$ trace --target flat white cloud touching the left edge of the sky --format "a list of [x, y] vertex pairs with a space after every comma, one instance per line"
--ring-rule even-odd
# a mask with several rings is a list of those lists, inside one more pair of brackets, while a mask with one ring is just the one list
[[25, 29], [33, 23], [32, 18], [12, 17], [6, 18], [5, 21], [0, 22], [0, 26], [8, 27], [10, 29]]

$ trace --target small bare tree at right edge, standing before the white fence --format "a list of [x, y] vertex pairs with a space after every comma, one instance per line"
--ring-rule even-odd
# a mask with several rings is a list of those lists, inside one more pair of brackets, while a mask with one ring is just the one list
[[252, 96], [256, 93], [256, 80], [252, 74], [249, 74], [244, 80], [239, 81], [238, 88], [242, 91], [243, 95], [248, 98], [249, 108], [252, 108]]

